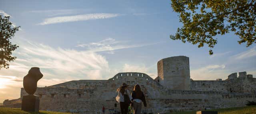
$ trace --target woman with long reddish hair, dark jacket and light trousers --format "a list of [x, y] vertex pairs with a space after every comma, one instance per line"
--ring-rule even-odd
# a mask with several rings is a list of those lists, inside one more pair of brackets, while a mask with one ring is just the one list
[[143, 102], [143, 105], [146, 107], [147, 104], [146, 104], [144, 93], [141, 91], [140, 85], [136, 84], [134, 85], [134, 88], [132, 91], [133, 114], [140, 114], [142, 102]]

